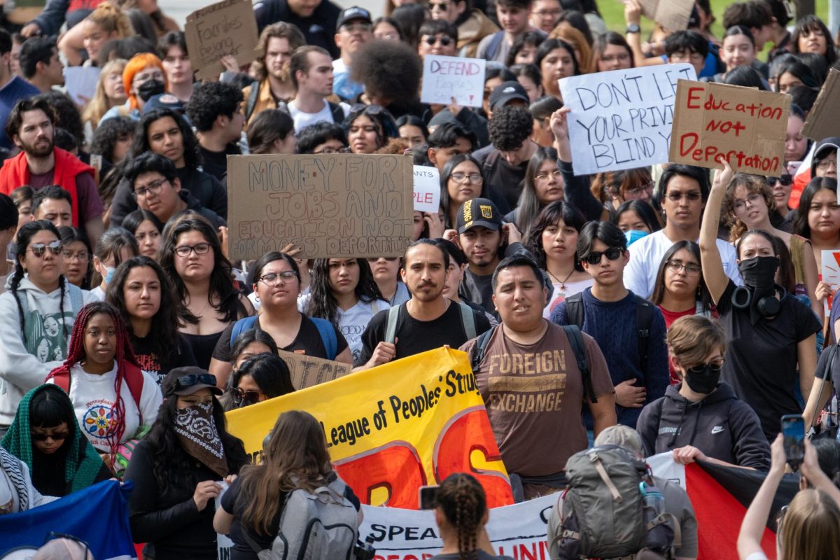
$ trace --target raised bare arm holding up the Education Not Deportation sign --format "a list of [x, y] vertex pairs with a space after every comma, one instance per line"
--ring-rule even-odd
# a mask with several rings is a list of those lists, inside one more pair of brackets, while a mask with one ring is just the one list
[[709, 200], [703, 212], [703, 222], [700, 228], [700, 260], [703, 267], [703, 280], [709, 289], [712, 301], [717, 304], [727, 289], [729, 279], [723, 271], [720, 251], [717, 250], [717, 228], [721, 222], [721, 203], [727, 191], [727, 185], [732, 180], [732, 167], [729, 162], [721, 158], [718, 163], [723, 164], [723, 170], [715, 171], [715, 181], [711, 184]]

